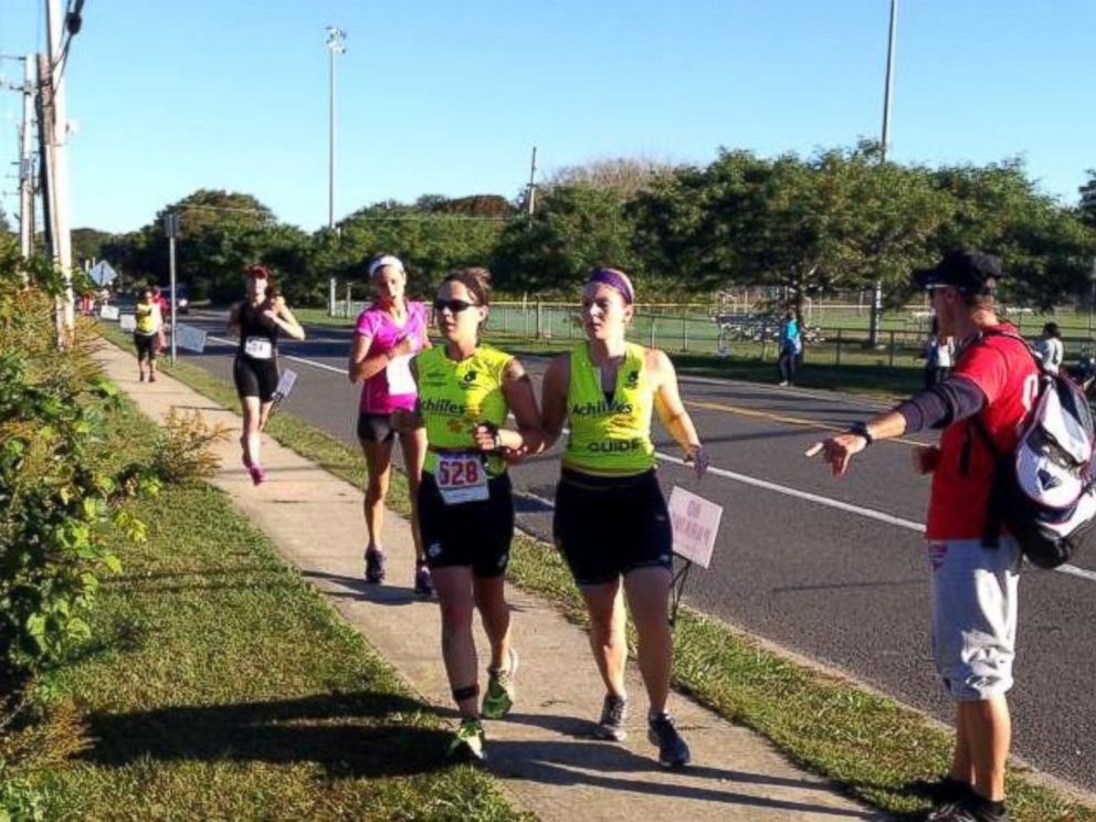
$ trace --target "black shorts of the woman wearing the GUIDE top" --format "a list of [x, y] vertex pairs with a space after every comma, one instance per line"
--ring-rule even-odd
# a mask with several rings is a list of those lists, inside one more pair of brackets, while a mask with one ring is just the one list
[[673, 570], [674, 535], [654, 468], [626, 477], [563, 468], [552, 536], [580, 586], [611, 582], [636, 568]]

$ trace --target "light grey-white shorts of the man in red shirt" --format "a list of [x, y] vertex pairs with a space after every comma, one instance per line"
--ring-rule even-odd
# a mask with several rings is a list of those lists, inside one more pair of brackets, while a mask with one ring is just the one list
[[1012, 687], [1020, 549], [980, 539], [928, 542], [932, 566], [932, 657], [953, 699], [973, 702]]

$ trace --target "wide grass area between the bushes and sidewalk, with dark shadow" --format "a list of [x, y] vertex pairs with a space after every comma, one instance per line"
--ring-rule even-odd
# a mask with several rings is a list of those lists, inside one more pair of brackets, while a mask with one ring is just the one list
[[[114, 424], [151, 446], [128, 401]], [[223, 493], [166, 485], [133, 513], [147, 544], [104, 534], [124, 570], [22, 730], [45, 818], [528, 818]]]

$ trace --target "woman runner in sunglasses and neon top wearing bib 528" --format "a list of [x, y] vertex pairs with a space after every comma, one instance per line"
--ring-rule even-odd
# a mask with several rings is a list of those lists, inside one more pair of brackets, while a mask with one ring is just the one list
[[[472, 615], [479, 609], [491, 641], [483, 716], [505, 716], [514, 703], [517, 654], [510, 647], [510, 610], [504, 578], [514, 536], [507, 462], [541, 447], [540, 414], [521, 363], [481, 345], [491, 273], [453, 272], [434, 299], [445, 345], [420, 351], [411, 363], [415, 410], [396, 411], [398, 430], [426, 429], [426, 460], [418, 491], [419, 528], [441, 603], [442, 657], [461, 726], [452, 753], [485, 759], [479, 721]], [[514, 413], [517, 430], [504, 429]]]

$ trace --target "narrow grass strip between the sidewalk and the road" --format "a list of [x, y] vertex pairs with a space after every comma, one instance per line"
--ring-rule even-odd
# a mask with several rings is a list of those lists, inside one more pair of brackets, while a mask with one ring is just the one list
[[[168, 369], [210, 399], [234, 408], [231, 389], [186, 362]], [[357, 452], [289, 414], [268, 432], [303, 456], [356, 485], [365, 470]], [[409, 513], [407, 485], [393, 482], [392, 509]], [[581, 600], [562, 560], [519, 535], [509, 578], [554, 602], [582, 624]], [[942, 772], [951, 736], [921, 714], [854, 683], [829, 676], [763, 647], [717, 619], [683, 607], [675, 632], [674, 684], [720, 715], [755, 729], [802, 767], [828, 777], [881, 810], [916, 818], [925, 800], [905, 790], [913, 779]], [[591, 663], [592, 664], [592, 663]], [[1024, 777], [1012, 768], [1009, 803], [1016, 822], [1096, 822], [1096, 808]]]

